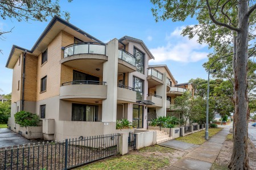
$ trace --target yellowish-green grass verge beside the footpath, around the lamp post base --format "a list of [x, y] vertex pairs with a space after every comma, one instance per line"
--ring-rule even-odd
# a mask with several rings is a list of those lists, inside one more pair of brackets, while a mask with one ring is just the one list
[[[218, 133], [222, 128], [209, 128], [209, 138]], [[185, 137], [176, 138], [177, 141], [193, 143], [195, 145], [202, 145], [206, 140], [204, 139], [205, 130], [189, 134]]]

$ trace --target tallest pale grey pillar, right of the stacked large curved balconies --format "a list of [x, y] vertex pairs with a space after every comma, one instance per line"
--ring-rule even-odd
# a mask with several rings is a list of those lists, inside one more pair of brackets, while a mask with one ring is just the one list
[[117, 72], [118, 72], [118, 40], [114, 39], [106, 45], [108, 61], [103, 65], [103, 81], [106, 82], [107, 99], [102, 101], [102, 122], [117, 120]]

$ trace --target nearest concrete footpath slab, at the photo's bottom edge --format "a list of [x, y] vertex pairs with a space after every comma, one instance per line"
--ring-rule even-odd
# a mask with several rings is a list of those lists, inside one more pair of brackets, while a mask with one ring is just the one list
[[191, 169], [191, 170], [199, 170], [204, 169], [208, 170], [212, 167], [212, 164], [209, 162], [205, 162], [202, 160], [196, 160], [191, 158], [183, 158], [180, 159], [174, 165], [175, 167], [182, 168], [182, 169]]

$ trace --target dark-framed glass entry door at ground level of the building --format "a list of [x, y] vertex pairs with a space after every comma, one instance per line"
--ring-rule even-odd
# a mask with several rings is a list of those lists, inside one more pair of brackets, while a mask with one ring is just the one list
[[144, 106], [134, 104], [133, 105], [133, 125], [136, 128], [143, 128]]

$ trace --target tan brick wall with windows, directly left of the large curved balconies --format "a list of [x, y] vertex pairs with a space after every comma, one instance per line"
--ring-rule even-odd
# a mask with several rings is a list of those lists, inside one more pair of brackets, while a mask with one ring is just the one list
[[[38, 77], [36, 86], [37, 101], [47, 99], [49, 97], [58, 96], [60, 93], [60, 59], [61, 59], [61, 40], [62, 32], [48, 45], [47, 62], [42, 63], [42, 54], [38, 57]], [[46, 92], [40, 94], [41, 79], [47, 75]]]

